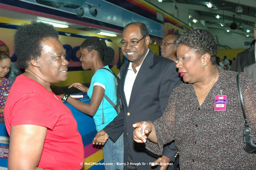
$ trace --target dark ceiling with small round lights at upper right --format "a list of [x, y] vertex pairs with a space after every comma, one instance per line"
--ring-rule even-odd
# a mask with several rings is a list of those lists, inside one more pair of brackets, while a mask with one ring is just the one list
[[[188, 22], [193, 28], [204, 28], [207, 27], [212, 29], [222, 29], [233, 31], [235, 33], [243, 35], [253, 35], [254, 23], [256, 22], [256, 0], [163, 0], [163, 2], [158, 2], [158, 0], [149, 0], [151, 3], [158, 7], [176, 7], [181, 10], [188, 10], [193, 16], [189, 20], [182, 20], [183, 22]], [[207, 2], [211, 2], [212, 8], [206, 6]], [[236, 7], [242, 7], [243, 13], [236, 13]], [[165, 8], [169, 13], [174, 13], [173, 8]], [[223, 15], [224, 13], [224, 15]], [[217, 19], [215, 16], [219, 15], [220, 18]], [[236, 22], [238, 28], [235, 30], [230, 29], [230, 24], [234, 21]], [[178, 13], [174, 15], [176, 18], [180, 19]], [[196, 24], [192, 22], [196, 19], [200, 22]], [[189, 23], [190, 22], [190, 23]], [[224, 23], [224, 26], [220, 24]], [[241, 24], [240, 24], [241, 23]], [[240, 24], [240, 25], [239, 25]], [[241, 26], [239, 28], [239, 26]], [[246, 29], [251, 32], [246, 33]]]

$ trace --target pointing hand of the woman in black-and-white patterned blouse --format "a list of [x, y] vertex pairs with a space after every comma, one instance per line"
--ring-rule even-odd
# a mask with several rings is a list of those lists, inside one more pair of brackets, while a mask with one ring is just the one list
[[[145, 122], [145, 128], [143, 130], [142, 125]], [[145, 143], [147, 136], [149, 135], [149, 133], [152, 130], [152, 126], [150, 124], [150, 122], [148, 121], [140, 121], [137, 122], [135, 124], [132, 125], [135, 129], [134, 129], [134, 141], [136, 141], [137, 143]]]

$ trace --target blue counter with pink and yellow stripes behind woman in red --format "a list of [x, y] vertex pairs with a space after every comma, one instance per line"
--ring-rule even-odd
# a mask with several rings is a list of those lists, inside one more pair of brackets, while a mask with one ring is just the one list
[[[89, 103], [90, 99], [86, 93], [76, 93], [83, 95], [78, 98], [79, 101]], [[92, 140], [97, 131], [93, 118], [81, 113], [79, 110], [71, 106], [69, 103], [64, 104], [72, 111], [78, 125], [78, 131], [82, 136], [82, 142], [85, 150], [85, 165], [83, 170], [105, 170], [103, 161], [102, 148], [93, 147]], [[9, 135], [4, 125], [4, 120], [0, 120], [0, 170], [7, 170], [7, 158], [9, 150]]]

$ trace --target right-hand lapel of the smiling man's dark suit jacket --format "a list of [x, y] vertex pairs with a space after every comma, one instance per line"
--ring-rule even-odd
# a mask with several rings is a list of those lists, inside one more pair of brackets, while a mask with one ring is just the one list
[[140, 87], [142, 86], [142, 84], [145, 82], [148, 75], [150, 74], [151, 72], [150, 66], [153, 64], [153, 60], [154, 60], [154, 54], [149, 50], [149, 53], [145, 57], [140, 67], [140, 70], [138, 72], [138, 75], [136, 76], [136, 79], [134, 81], [134, 85], [131, 90], [131, 97], [130, 97], [128, 109], [131, 106], [132, 102], [134, 101], [134, 98], [138, 94]]

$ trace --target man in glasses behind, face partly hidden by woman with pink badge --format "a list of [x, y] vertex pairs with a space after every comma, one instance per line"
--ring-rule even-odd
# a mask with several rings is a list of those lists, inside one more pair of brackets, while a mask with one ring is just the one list
[[161, 56], [169, 58], [176, 63], [178, 62], [176, 55], [177, 47], [174, 44], [174, 40], [176, 40], [178, 36], [179, 35], [176, 33], [167, 34], [160, 43]]

